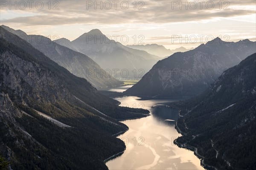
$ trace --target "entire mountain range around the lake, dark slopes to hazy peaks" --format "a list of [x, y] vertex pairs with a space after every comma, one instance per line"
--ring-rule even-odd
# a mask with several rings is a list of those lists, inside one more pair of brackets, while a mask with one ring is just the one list
[[107, 170], [105, 160], [125, 150], [116, 136], [128, 127], [118, 120], [150, 114], [105, 95], [196, 96], [169, 104], [180, 110], [175, 144], [209, 170], [256, 167], [256, 42], [215, 38], [175, 52], [117, 93], [97, 90], [122, 84], [109, 70], [137, 77], [132, 69], [146, 71], [159, 58], [149, 51], [169, 50], [99, 37], [109, 40], [98, 29], [70, 42], [0, 26], [0, 167], [3, 155], [10, 170]]

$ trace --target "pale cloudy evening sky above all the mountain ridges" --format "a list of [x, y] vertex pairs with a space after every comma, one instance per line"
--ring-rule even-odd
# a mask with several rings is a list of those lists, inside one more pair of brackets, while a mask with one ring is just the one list
[[99, 29], [124, 45], [192, 48], [256, 40], [256, 0], [0, 0], [0, 25], [75, 40]]

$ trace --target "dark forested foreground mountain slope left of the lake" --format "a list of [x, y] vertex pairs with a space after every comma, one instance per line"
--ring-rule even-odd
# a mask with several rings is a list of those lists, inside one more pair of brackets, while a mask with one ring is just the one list
[[116, 119], [148, 116], [119, 107], [31, 44], [0, 27], [0, 154], [13, 170], [108, 169], [125, 144]]

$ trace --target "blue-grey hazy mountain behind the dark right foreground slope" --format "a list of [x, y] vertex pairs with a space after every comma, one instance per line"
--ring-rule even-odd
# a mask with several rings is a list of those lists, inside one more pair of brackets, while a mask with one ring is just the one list
[[256, 42], [224, 42], [216, 38], [194, 50], [162, 59], [125, 94], [135, 96], [197, 96], [221, 73], [256, 52]]

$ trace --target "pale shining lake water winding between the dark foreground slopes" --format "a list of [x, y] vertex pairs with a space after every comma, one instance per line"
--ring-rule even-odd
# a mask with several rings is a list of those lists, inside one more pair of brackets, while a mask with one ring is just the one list
[[[121, 121], [129, 130], [118, 138], [126, 143], [121, 155], [106, 163], [110, 170], [203, 170], [200, 160], [192, 151], [173, 144], [180, 134], [175, 130], [177, 109], [166, 107], [177, 99], [142, 99], [136, 96], [116, 98], [129, 107], [143, 103], [151, 116], [142, 119]], [[121, 104], [121, 105], [122, 105]]]

